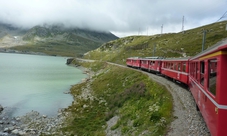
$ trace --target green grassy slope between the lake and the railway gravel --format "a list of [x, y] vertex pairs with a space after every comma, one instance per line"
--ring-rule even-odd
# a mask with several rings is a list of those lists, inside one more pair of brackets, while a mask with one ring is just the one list
[[[89, 64], [84, 64], [89, 65]], [[172, 121], [172, 97], [165, 87], [133, 70], [91, 63], [91, 69], [102, 68], [89, 84], [93, 99], [79, 99], [88, 84], [72, 87], [77, 103], [67, 111], [71, 117], [63, 132], [72, 135], [105, 135], [106, 121], [119, 116], [112, 130], [120, 129], [122, 135], [165, 135]], [[100, 72], [100, 71], [99, 71]]]

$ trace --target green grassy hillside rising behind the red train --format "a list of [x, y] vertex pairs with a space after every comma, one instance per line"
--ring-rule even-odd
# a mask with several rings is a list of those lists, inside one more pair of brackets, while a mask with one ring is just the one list
[[[227, 21], [184, 31], [152, 36], [129, 36], [103, 44], [87, 53], [85, 58], [125, 64], [132, 56], [183, 57], [194, 56], [202, 50], [203, 30], [206, 30], [204, 49], [227, 37]], [[155, 53], [154, 53], [155, 48]]]

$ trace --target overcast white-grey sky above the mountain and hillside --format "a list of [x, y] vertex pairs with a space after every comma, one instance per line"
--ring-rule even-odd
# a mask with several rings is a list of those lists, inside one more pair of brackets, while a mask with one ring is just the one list
[[[180, 32], [216, 22], [226, 0], [0, 0], [0, 22], [18, 27], [64, 24], [117, 36]], [[223, 18], [227, 19], [227, 15]]]

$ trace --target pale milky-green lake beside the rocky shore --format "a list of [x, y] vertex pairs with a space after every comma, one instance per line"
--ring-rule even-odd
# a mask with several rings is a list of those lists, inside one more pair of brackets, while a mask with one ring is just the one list
[[32, 110], [48, 116], [71, 105], [72, 85], [86, 77], [64, 57], [0, 53], [0, 104], [12, 116]]

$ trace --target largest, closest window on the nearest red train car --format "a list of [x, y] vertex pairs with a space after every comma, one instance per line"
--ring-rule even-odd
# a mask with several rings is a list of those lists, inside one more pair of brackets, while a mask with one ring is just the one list
[[211, 59], [208, 61], [209, 65], [209, 83], [208, 88], [209, 91], [216, 95], [216, 79], [217, 79], [217, 59]]

